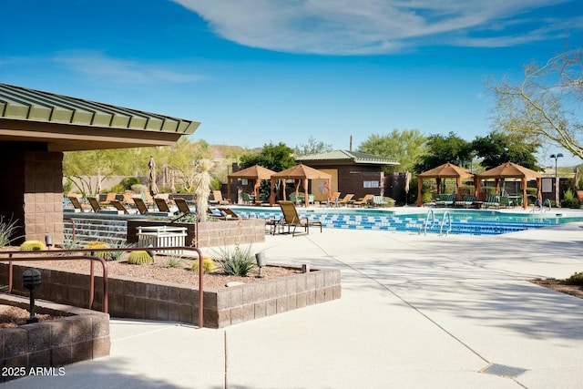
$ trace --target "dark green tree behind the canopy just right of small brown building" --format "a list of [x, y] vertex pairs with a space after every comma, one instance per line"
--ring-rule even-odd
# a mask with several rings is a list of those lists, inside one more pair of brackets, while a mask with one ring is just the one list
[[441, 134], [430, 135], [424, 155], [414, 165], [415, 173], [423, 173], [447, 162], [469, 168], [472, 163], [472, 144], [450, 132], [446, 137]]

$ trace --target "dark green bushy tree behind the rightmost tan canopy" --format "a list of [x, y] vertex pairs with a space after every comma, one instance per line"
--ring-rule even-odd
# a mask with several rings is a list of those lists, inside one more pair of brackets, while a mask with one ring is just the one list
[[505, 162], [514, 162], [527, 169], [540, 170], [535, 153], [539, 144], [522, 134], [506, 134], [493, 131], [486, 137], [476, 137], [472, 148], [481, 158], [480, 166], [493, 169]]

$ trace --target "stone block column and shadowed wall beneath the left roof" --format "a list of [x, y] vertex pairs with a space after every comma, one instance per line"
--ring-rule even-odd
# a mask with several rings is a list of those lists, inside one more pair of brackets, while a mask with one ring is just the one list
[[0, 147], [0, 215], [18, 220], [13, 241], [55, 242], [63, 235], [63, 153], [29, 150], [26, 145]]

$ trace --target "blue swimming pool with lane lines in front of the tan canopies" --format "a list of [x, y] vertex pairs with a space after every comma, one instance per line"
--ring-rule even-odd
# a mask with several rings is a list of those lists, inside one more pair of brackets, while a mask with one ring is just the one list
[[[279, 208], [237, 207], [243, 218], [280, 219]], [[583, 212], [537, 210], [535, 212], [499, 210], [400, 209], [302, 209], [301, 217], [319, 220], [325, 228], [348, 230], [388, 230], [416, 233], [499, 235], [583, 221]]]

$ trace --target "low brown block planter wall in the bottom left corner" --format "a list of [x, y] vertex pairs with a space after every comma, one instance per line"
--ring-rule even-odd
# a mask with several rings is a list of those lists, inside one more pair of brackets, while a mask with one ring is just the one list
[[[28, 309], [28, 298], [0, 294], [0, 304]], [[36, 300], [35, 312], [59, 319], [0, 329], [3, 371], [0, 382], [35, 374], [64, 374], [66, 364], [109, 355], [109, 315]]]

